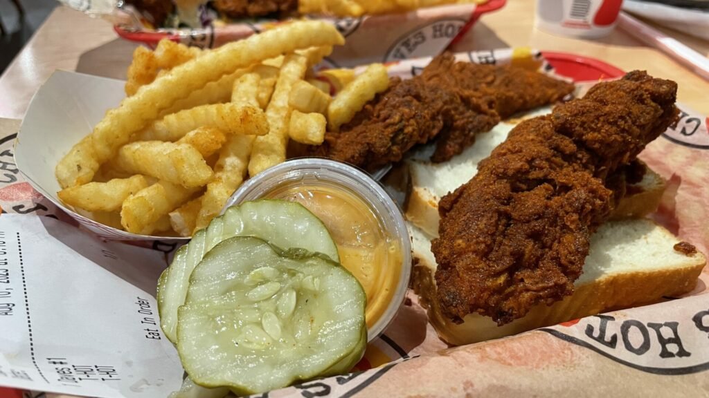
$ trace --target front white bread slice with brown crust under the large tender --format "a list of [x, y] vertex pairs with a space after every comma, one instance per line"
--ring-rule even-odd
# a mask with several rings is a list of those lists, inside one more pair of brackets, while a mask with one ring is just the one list
[[651, 220], [606, 222], [591, 237], [591, 251], [583, 275], [574, 283], [573, 295], [552, 306], [534, 307], [525, 317], [504, 326], [479, 314], [469, 314], [462, 324], [454, 324], [443, 316], [436, 299], [436, 262], [430, 238], [411, 223], [408, 227], [415, 263], [413, 289], [428, 309], [429, 322], [440, 338], [452, 345], [498, 339], [682, 295], [693, 290], [706, 263], [701, 253], [688, 256], [675, 251], [673, 246], [679, 239]]

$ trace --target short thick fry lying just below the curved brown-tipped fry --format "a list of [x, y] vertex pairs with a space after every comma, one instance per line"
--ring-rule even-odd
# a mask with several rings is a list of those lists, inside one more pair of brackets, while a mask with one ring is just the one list
[[116, 166], [186, 188], [203, 186], [213, 175], [197, 149], [174, 142], [138, 141], [126, 144], [118, 151]]

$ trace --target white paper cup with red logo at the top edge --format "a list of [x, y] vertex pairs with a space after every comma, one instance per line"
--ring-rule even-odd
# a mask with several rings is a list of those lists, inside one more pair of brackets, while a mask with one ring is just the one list
[[623, 0], [537, 0], [536, 25], [554, 35], [602, 38], [615, 28]]

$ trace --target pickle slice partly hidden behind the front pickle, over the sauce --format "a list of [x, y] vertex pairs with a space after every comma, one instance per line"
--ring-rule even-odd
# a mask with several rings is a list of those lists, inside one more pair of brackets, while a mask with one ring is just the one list
[[177, 309], [184, 304], [192, 270], [216, 244], [236, 236], [259, 237], [286, 249], [301, 247], [340, 261], [325, 224], [303, 205], [284, 200], [256, 200], [229, 207], [177, 251], [160, 277], [157, 309], [160, 326], [169, 341], [177, 342]]

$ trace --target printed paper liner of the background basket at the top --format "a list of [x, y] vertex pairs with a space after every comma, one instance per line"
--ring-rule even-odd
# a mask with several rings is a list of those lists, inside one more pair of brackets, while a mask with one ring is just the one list
[[[91, 15], [110, 14], [116, 20], [116, 0], [60, 0], [74, 9]], [[332, 23], [345, 36], [344, 46], [337, 46], [325, 63], [331, 67], [352, 67], [372, 62], [438, 55], [456, 38], [461, 37], [484, 13], [501, 8], [506, 0], [489, 0], [484, 4], [453, 4], [419, 8], [408, 13], [393, 13], [359, 18], [318, 19]], [[141, 18], [116, 21], [116, 32], [122, 38], [156, 45], [162, 38], [186, 45], [210, 48], [247, 38], [282, 21], [258, 19], [228, 24], [208, 21], [204, 28], [153, 29]]]

